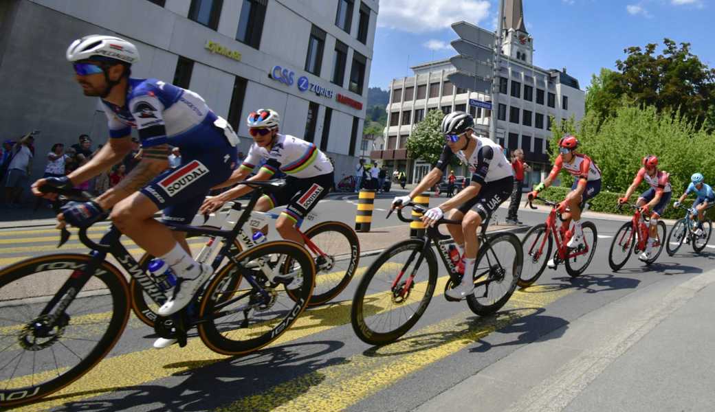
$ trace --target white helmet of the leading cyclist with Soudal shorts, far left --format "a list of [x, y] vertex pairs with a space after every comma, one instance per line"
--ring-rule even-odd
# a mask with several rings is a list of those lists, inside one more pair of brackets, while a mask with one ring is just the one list
[[76, 62], [99, 56], [104, 59], [114, 59], [124, 63], [134, 64], [139, 61], [139, 51], [134, 44], [114, 36], [92, 34], [72, 42], [67, 48], [68, 61]]

